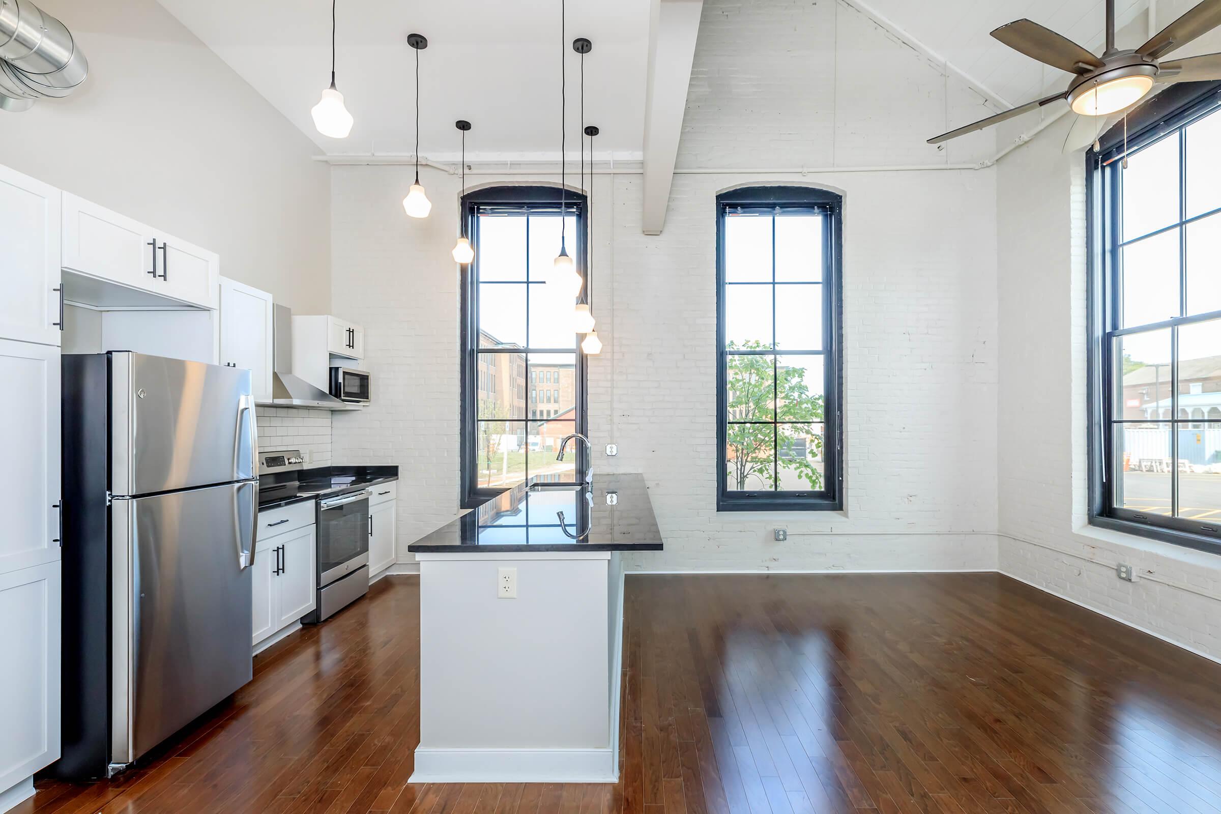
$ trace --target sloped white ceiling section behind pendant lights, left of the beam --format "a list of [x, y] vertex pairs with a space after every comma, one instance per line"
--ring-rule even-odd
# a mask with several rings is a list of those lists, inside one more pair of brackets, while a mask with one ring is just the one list
[[[420, 154], [457, 160], [554, 157], [559, 149], [560, 28], [557, 0], [339, 0], [337, 85], [355, 118], [347, 139], [314, 129], [330, 83], [326, 0], [160, 0], [238, 74], [328, 154], [414, 151], [415, 51], [420, 52]], [[586, 37], [585, 121], [598, 154], [639, 159], [645, 116], [650, 0], [568, 0], [569, 151], [578, 150], [579, 65]], [[541, 156], [538, 155], [541, 154]]]

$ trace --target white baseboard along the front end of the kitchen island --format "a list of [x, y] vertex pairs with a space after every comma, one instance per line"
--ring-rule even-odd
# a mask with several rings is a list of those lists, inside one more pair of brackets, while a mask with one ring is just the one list
[[411, 783], [613, 783], [617, 755], [609, 749], [415, 748]]

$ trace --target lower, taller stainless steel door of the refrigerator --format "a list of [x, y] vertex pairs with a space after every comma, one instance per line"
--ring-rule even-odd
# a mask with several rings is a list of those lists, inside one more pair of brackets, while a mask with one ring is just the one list
[[111, 762], [132, 763], [250, 680], [255, 483], [111, 508]]

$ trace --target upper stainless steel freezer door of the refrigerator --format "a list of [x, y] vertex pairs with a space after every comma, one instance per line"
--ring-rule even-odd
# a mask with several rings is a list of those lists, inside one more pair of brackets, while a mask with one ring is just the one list
[[111, 399], [114, 494], [258, 477], [250, 371], [112, 353]]

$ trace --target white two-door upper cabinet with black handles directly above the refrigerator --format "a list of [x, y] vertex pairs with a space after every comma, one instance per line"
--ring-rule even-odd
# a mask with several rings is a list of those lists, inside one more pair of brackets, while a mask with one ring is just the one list
[[156, 303], [123, 299], [121, 292], [94, 284], [105, 281], [162, 301], [172, 298], [206, 309], [220, 305], [217, 255], [70, 193], [62, 198], [62, 247], [63, 267], [89, 278], [73, 283], [70, 299], [74, 295], [99, 308]]

